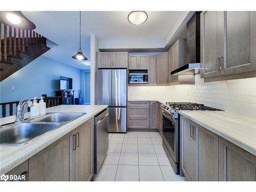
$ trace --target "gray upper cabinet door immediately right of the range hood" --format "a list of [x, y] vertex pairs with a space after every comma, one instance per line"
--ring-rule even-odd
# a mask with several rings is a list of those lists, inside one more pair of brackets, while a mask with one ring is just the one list
[[223, 62], [223, 12], [201, 13], [201, 63], [204, 77], [220, 75]]

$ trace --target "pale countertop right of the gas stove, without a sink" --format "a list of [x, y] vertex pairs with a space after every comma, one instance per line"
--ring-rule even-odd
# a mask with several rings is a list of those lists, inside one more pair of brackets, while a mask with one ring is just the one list
[[256, 119], [225, 111], [179, 111], [179, 114], [256, 156]]

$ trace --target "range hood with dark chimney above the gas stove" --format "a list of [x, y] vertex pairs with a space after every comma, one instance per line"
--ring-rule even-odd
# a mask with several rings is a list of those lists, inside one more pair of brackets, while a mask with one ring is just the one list
[[171, 75], [195, 75], [200, 73], [200, 11], [187, 22], [186, 61], [187, 64], [170, 72]]

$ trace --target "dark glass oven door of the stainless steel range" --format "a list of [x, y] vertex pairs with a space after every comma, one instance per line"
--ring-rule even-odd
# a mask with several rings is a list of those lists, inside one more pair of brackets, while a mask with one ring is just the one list
[[163, 116], [163, 141], [172, 155], [175, 163], [179, 161], [179, 125], [169, 113], [162, 111]]

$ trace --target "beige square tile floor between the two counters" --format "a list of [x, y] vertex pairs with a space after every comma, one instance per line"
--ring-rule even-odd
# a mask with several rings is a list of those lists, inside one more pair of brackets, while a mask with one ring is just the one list
[[109, 134], [109, 151], [95, 181], [185, 181], [176, 175], [158, 132]]

